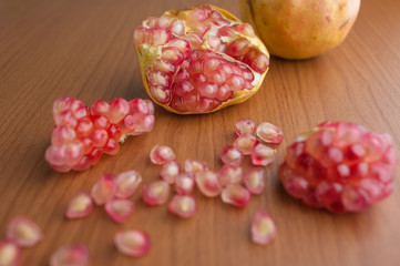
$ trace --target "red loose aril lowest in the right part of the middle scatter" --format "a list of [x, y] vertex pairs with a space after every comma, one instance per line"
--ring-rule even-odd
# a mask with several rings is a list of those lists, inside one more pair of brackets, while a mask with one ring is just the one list
[[227, 184], [220, 193], [224, 203], [236, 207], [245, 207], [250, 202], [250, 193], [238, 184]]

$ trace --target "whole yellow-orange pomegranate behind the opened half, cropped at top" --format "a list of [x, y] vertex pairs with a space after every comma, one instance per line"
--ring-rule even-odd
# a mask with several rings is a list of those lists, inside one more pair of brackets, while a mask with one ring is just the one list
[[269, 52], [307, 59], [339, 45], [356, 21], [360, 0], [240, 0]]

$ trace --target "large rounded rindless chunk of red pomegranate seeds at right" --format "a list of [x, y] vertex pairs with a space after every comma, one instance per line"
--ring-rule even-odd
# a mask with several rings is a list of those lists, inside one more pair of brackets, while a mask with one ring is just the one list
[[325, 122], [287, 149], [279, 177], [314, 207], [359, 212], [391, 193], [397, 155], [388, 134], [348, 122]]

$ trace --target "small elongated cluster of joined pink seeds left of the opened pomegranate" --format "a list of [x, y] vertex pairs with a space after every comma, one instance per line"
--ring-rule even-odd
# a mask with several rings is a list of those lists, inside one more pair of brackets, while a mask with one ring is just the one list
[[154, 106], [148, 100], [99, 100], [91, 108], [80, 100], [63, 96], [54, 102], [51, 146], [45, 160], [59, 172], [84, 171], [95, 165], [103, 153], [116, 154], [127, 135], [150, 132]]

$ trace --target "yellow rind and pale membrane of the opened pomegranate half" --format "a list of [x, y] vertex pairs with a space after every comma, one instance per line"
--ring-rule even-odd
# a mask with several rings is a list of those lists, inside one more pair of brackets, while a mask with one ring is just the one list
[[[236, 18], [235, 16], [233, 16], [232, 13], [229, 13], [228, 11], [226, 11], [224, 9], [220, 9], [220, 8], [215, 7], [213, 4], [207, 4], [207, 7], [211, 7], [213, 10], [220, 13], [223, 16], [223, 18], [228, 20], [229, 22], [244, 23], [238, 18]], [[168, 11], [165, 11], [162, 16], [170, 17], [170, 18], [182, 19], [183, 21], [185, 21], [185, 19], [188, 17], [188, 12], [191, 10], [192, 9], [182, 10], [182, 11], [181, 10], [168, 10]], [[263, 41], [258, 37], [256, 37], [256, 35], [248, 37], [248, 35], [242, 34], [239, 32], [237, 32], [236, 34], [237, 34], [238, 38], [244, 38], [244, 39], [248, 40], [252, 45], [259, 49], [259, 51], [263, 52], [265, 55], [267, 55], [267, 58], [269, 60], [270, 55], [268, 53], [268, 50], [266, 49]], [[181, 111], [177, 111], [177, 110], [171, 108], [168, 104], [163, 104], [163, 103], [158, 102], [156, 99], [154, 99], [154, 96], [152, 95], [152, 93], [150, 91], [148, 81], [147, 81], [145, 70], [150, 69], [154, 64], [155, 60], [157, 60], [160, 58], [162, 45], [161, 47], [153, 47], [153, 45], [152, 47], [144, 47], [144, 45], [135, 45], [134, 44], [134, 47], [135, 47], [135, 50], [137, 52], [137, 57], [139, 57], [139, 61], [140, 61], [140, 65], [141, 65], [141, 79], [142, 79], [142, 83], [143, 83], [145, 92], [153, 100], [153, 102], [161, 105], [166, 111], [172, 112], [172, 113], [176, 113], [176, 114], [213, 113], [213, 112], [219, 111], [219, 110], [222, 110], [224, 108], [243, 103], [243, 102], [247, 101], [250, 96], [253, 96], [259, 90], [260, 85], [263, 84], [264, 78], [267, 74], [268, 70], [269, 70], [269, 65], [268, 65], [267, 69], [263, 73], [258, 73], [259, 74], [258, 81], [257, 81], [256, 84], [252, 84], [253, 89], [250, 89], [250, 90], [244, 89], [242, 91], [234, 91], [233, 92], [233, 98], [222, 102], [214, 110], [206, 111], [206, 112], [195, 112], [195, 111], [181, 112]], [[201, 51], [202, 50], [211, 50], [211, 47], [208, 44], [208, 40], [205, 40], [203, 42], [203, 44], [196, 50], [201, 50]], [[217, 54], [219, 54], [219, 53], [217, 53]], [[229, 57], [229, 55], [224, 53], [224, 57]], [[237, 61], [235, 59], [233, 59], [233, 60]], [[253, 73], [255, 73], [255, 71], [252, 68], [249, 68], [249, 69], [253, 71]]]

